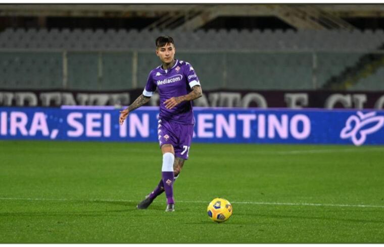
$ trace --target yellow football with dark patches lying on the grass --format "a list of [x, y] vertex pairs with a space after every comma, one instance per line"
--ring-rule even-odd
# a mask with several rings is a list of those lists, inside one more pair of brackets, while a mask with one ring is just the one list
[[232, 215], [232, 205], [223, 198], [215, 198], [209, 203], [207, 213], [211, 220], [224, 222]]

